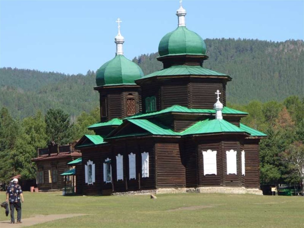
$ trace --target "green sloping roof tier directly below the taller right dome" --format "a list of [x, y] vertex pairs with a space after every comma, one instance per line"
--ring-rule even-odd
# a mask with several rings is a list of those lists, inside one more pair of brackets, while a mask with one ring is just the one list
[[[169, 68], [165, 68], [151, 74], [145, 75], [142, 78], [150, 78], [154, 76], [174, 76], [174, 75], [216, 75], [216, 76], [228, 76], [223, 73], [219, 73], [213, 70], [203, 68], [201, 66], [187, 66], [176, 65]], [[228, 76], [229, 77], [229, 76]]]

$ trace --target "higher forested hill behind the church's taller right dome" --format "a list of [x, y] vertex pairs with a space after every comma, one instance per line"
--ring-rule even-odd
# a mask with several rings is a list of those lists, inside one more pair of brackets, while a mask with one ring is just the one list
[[[227, 100], [282, 101], [290, 95], [303, 97], [303, 40], [269, 42], [261, 40], [206, 39], [203, 67], [232, 77], [227, 84]], [[133, 61], [149, 74], [162, 69], [158, 53], [143, 54]]]

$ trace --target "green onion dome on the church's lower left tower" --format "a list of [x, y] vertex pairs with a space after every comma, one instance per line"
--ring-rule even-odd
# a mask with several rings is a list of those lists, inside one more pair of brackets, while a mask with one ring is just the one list
[[135, 84], [134, 80], [143, 77], [143, 71], [122, 54], [106, 62], [96, 71], [97, 86], [110, 84]]

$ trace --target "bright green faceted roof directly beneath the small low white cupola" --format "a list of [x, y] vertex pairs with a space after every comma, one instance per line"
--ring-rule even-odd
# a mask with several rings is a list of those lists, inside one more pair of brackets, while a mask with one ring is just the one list
[[199, 121], [185, 131], [181, 132], [181, 135], [195, 135], [195, 134], [208, 134], [208, 133], [220, 133], [220, 132], [245, 132], [239, 127], [229, 123], [226, 120], [203, 120]]

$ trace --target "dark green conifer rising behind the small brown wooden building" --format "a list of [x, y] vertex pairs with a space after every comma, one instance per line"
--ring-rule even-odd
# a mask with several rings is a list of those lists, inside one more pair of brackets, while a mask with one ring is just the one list
[[69, 115], [61, 109], [49, 109], [45, 115], [46, 133], [48, 139], [59, 145], [70, 142], [73, 138], [73, 125]]

